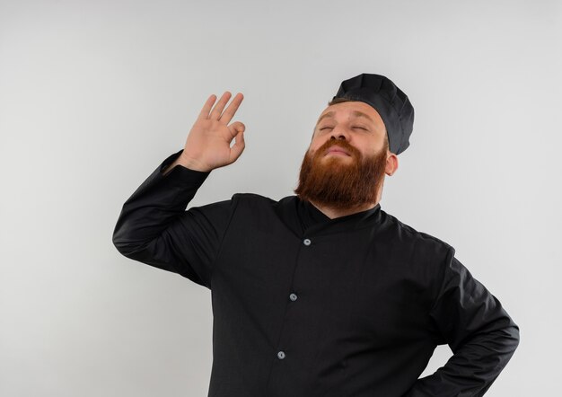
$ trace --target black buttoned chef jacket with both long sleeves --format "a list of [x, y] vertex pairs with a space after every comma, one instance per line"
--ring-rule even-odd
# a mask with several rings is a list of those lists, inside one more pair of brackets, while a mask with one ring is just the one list
[[[451, 245], [381, 209], [295, 196], [186, 207], [208, 172], [165, 159], [127, 199], [120, 253], [211, 290], [210, 397], [481, 396], [519, 329]], [[437, 345], [453, 355], [418, 379]]]

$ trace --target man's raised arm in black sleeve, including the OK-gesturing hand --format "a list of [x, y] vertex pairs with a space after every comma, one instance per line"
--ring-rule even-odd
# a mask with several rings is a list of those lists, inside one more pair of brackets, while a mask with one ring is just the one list
[[127, 258], [179, 273], [208, 288], [236, 203], [225, 200], [185, 208], [209, 172], [233, 163], [244, 149], [244, 125], [228, 125], [242, 95], [224, 110], [229, 98], [230, 93], [224, 93], [213, 110], [216, 97], [208, 98], [185, 147], [164, 160], [127, 199], [113, 232], [113, 244]]

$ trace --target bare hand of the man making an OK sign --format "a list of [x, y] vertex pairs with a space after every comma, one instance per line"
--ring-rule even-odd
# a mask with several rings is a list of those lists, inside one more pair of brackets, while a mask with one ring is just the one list
[[[228, 123], [233, 119], [244, 96], [237, 93], [226, 110], [224, 106], [231, 97], [226, 91], [216, 103], [215, 94], [205, 102], [198, 119], [189, 131], [188, 139], [180, 155], [180, 163], [189, 169], [209, 172], [215, 168], [234, 163], [244, 150], [244, 130], [246, 126], [240, 121]], [[224, 110], [224, 111], [223, 111]], [[235, 139], [234, 145], [231, 143]]]

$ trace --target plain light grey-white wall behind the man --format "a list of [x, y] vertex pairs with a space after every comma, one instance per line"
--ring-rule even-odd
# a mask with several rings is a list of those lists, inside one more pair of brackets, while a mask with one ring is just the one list
[[556, 0], [0, 2], [0, 395], [206, 395], [210, 292], [121, 256], [121, 206], [225, 90], [246, 151], [192, 205], [293, 194], [361, 73], [416, 109], [382, 209], [452, 244], [521, 327], [487, 395], [555, 395], [561, 26]]

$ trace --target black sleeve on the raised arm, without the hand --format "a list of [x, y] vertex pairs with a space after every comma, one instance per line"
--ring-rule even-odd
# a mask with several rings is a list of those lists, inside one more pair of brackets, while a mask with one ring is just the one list
[[235, 206], [225, 200], [185, 210], [209, 172], [176, 165], [171, 154], [127, 199], [113, 232], [113, 244], [132, 260], [178, 273], [211, 288], [216, 255]]

